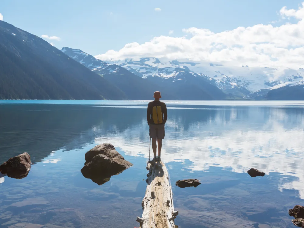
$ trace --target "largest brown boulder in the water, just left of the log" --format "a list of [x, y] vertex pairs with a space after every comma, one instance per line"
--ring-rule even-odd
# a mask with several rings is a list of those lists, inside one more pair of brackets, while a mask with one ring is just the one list
[[85, 154], [85, 166], [81, 169], [81, 173], [85, 178], [102, 185], [109, 181], [112, 175], [117, 175], [132, 165], [115, 150], [112, 144], [104, 143]]

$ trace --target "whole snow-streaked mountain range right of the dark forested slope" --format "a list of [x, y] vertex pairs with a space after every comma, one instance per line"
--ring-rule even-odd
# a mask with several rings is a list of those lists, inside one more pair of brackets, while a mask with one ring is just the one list
[[[143, 87], [153, 85], [153, 88], [163, 88], [162, 91], [168, 93], [167, 97], [174, 99], [265, 99], [269, 91], [296, 84], [303, 80], [304, 76], [304, 69], [224, 67], [218, 64], [170, 61], [153, 57], [106, 63], [79, 49], [64, 47], [61, 51], [123, 91], [127, 90], [127, 85], [132, 80], [135, 80], [133, 84], [137, 85], [140, 78], [144, 81], [140, 82]], [[130, 80], [126, 80], [128, 77]], [[126, 80], [125, 84], [119, 85], [122, 79]], [[183, 95], [177, 91], [184, 91]], [[129, 91], [129, 94], [132, 92]]]

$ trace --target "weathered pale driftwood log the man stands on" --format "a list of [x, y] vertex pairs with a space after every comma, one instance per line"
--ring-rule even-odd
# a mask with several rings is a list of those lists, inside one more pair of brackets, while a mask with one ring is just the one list
[[137, 217], [141, 228], [174, 228], [174, 211], [172, 188], [169, 174], [163, 162], [148, 163], [147, 189], [142, 201], [143, 214]]

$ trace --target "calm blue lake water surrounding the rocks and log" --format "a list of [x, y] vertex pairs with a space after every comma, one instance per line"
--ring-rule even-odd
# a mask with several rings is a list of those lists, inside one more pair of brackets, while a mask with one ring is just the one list
[[[304, 102], [166, 103], [161, 157], [179, 228], [295, 227], [288, 209], [304, 205]], [[139, 227], [146, 107], [146, 101], [0, 101], [0, 163], [23, 152], [33, 162], [26, 178], [0, 176], [0, 227]], [[99, 186], [80, 170], [85, 153], [100, 143], [112, 143], [134, 166]], [[266, 175], [251, 178], [250, 168]], [[185, 178], [202, 184], [175, 186]]]

